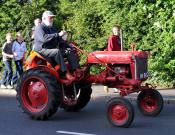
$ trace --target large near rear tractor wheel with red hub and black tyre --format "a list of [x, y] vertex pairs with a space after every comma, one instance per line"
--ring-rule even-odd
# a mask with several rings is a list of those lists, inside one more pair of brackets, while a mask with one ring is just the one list
[[60, 88], [56, 78], [42, 69], [30, 69], [17, 82], [17, 100], [31, 118], [45, 120], [60, 105]]

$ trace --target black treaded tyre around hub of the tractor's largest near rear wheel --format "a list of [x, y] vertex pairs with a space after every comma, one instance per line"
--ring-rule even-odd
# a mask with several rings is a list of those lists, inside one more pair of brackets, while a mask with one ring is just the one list
[[[23, 104], [22, 97], [21, 97], [21, 91], [23, 82], [27, 78], [31, 77], [39, 77], [42, 79], [48, 88], [48, 103], [45, 106], [45, 108], [41, 112], [31, 112], [26, 106]], [[23, 73], [23, 75], [20, 77], [20, 79], [17, 82], [17, 95], [16, 98], [19, 103], [19, 107], [22, 108], [24, 113], [28, 114], [31, 118], [36, 120], [46, 120], [49, 117], [51, 117], [53, 114], [56, 113], [59, 105], [60, 105], [60, 99], [61, 99], [61, 92], [59, 91], [60, 87], [58, 85], [58, 82], [56, 81], [56, 78], [50, 74], [47, 71], [44, 71], [42, 69], [30, 69]]]

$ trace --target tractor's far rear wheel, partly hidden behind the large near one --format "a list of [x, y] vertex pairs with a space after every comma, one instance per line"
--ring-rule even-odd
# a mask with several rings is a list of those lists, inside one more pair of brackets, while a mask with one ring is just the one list
[[[75, 85], [75, 86], [73, 86]], [[74, 94], [74, 88], [76, 89], [76, 95]], [[65, 86], [65, 95], [67, 99], [63, 96], [61, 107], [69, 112], [76, 112], [84, 108], [91, 99], [92, 88], [91, 84], [72, 84], [70, 86]], [[76, 96], [76, 100], [75, 99]]]

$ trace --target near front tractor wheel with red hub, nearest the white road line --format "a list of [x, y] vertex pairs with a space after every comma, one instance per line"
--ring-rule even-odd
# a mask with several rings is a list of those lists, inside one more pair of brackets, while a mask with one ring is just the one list
[[132, 104], [125, 98], [115, 97], [107, 103], [107, 118], [117, 127], [129, 127], [134, 119]]

